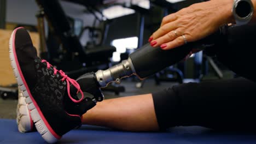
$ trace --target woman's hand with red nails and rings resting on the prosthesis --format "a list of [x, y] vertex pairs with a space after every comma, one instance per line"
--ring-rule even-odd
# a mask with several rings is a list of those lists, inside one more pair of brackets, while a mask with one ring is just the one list
[[233, 0], [212, 0], [170, 14], [162, 19], [160, 28], [149, 38], [149, 42], [154, 47], [169, 50], [200, 40], [225, 23], [233, 22], [232, 4]]

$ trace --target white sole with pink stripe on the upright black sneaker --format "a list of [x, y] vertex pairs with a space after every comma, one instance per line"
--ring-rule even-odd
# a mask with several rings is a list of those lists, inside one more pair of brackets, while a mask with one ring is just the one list
[[[61, 137], [55, 137], [56, 133], [51, 129], [48, 122], [45, 120], [44, 116], [42, 115], [42, 112], [40, 111], [36, 101], [34, 101], [33, 97], [30, 93], [30, 89], [27, 88], [26, 81], [22, 80], [22, 73], [19, 72], [20, 68], [18, 68], [19, 63], [16, 63], [17, 59], [14, 55], [15, 47], [13, 45], [14, 43], [14, 34], [16, 33], [16, 30], [19, 28], [16, 28], [13, 33], [11, 33], [11, 37], [9, 40], [9, 56], [11, 61], [11, 67], [13, 68], [14, 75], [16, 78], [16, 81], [18, 82], [18, 86], [20, 90], [22, 91], [23, 96], [25, 97], [25, 101], [27, 104], [28, 110], [30, 110], [31, 118], [33, 122], [35, 123], [36, 129], [40, 135], [42, 135], [43, 139], [48, 143], [55, 143], [58, 139]], [[41, 113], [41, 115], [39, 114]], [[48, 127], [46, 126], [48, 125]], [[51, 129], [51, 130], [49, 130]], [[52, 134], [53, 133], [53, 134]], [[58, 135], [57, 135], [58, 136]]]

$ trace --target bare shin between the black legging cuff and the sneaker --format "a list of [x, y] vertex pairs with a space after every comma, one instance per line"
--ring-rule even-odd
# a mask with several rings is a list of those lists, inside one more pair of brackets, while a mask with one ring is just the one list
[[127, 131], [159, 130], [152, 94], [103, 100], [83, 115], [82, 122]]

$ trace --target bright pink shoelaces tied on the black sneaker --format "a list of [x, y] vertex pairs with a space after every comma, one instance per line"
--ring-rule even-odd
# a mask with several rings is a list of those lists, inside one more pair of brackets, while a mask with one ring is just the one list
[[[51, 65], [49, 62], [47, 62], [46, 60], [42, 59], [41, 61], [42, 63], [45, 62], [47, 64], [47, 68], [49, 69], [50, 67], [53, 67], [53, 65]], [[57, 74], [57, 72], [60, 73], [60, 75], [63, 77], [61, 79], [61, 81], [67, 81], [67, 92], [68, 92], [68, 97], [74, 102], [74, 103], [80, 103], [83, 99], [84, 99], [84, 93], [83, 91], [81, 90], [79, 84], [77, 83], [77, 81], [71, 79], [70, 77], [68, 77], [62, 70], [57, 70], [56, 68], [54, 68], [54, 75]], [[82, 98], [79, 99], [79, 100], [75, 100], [71, 97], [71, 94], [70, 94], [70, 86], [69, 86], [69, 82], [75, 87], [77, 88], [77, 94], [80, 92], [82, 94]]]

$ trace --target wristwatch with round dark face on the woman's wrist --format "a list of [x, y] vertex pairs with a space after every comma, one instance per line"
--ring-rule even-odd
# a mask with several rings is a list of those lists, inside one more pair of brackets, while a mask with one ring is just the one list
[[236, 26], [246, 25], [253, 16], [253, 3], [251, 0], [234, 0], [232, 14], [236, 21]]

